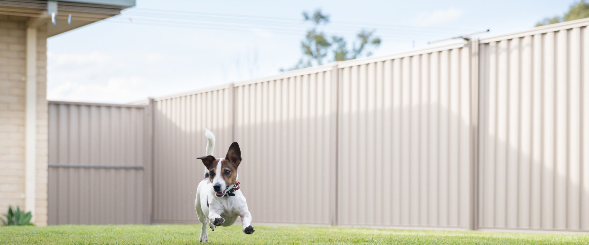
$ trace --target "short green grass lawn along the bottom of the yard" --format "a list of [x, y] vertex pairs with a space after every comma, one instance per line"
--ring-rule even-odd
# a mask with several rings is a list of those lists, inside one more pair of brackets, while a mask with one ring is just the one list
[[[423, 231], [317, 226], [209, 229], [209, 244], [589, 244], [588, 234]], [[199, 244], [200, 225], [0, 227], [0, 244]]]

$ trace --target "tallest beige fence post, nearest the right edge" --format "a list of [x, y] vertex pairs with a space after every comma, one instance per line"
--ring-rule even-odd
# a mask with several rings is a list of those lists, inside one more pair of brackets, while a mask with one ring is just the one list
[[477, 230], [478, 223], [478, 135], [479, 135], [479, 39], [469, 42], [470, 48], [470, 93], [471, 93], [471, 118], [470, 118], [470, 189], [468, 193], [468, 230]]

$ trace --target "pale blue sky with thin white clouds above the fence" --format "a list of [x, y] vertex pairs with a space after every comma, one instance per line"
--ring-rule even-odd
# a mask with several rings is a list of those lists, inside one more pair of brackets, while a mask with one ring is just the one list
[[[120, 16], [48, 39], [47, 98], [130, 103], [276, 75], [302, 56], [303, 11], [322, 9], [333, 22], [325, 32], [349, 42], [362, 28], [374, 30], [382, 44], [373, 56], [386, 56], [459, 43], [427, 42], [487, 28], [491, 31], [476, 36], [525, 31], [545, 17], [562, 15], [571, 4], [137, 0]], [[243, 15], [264, 18], [232, 22]]]

